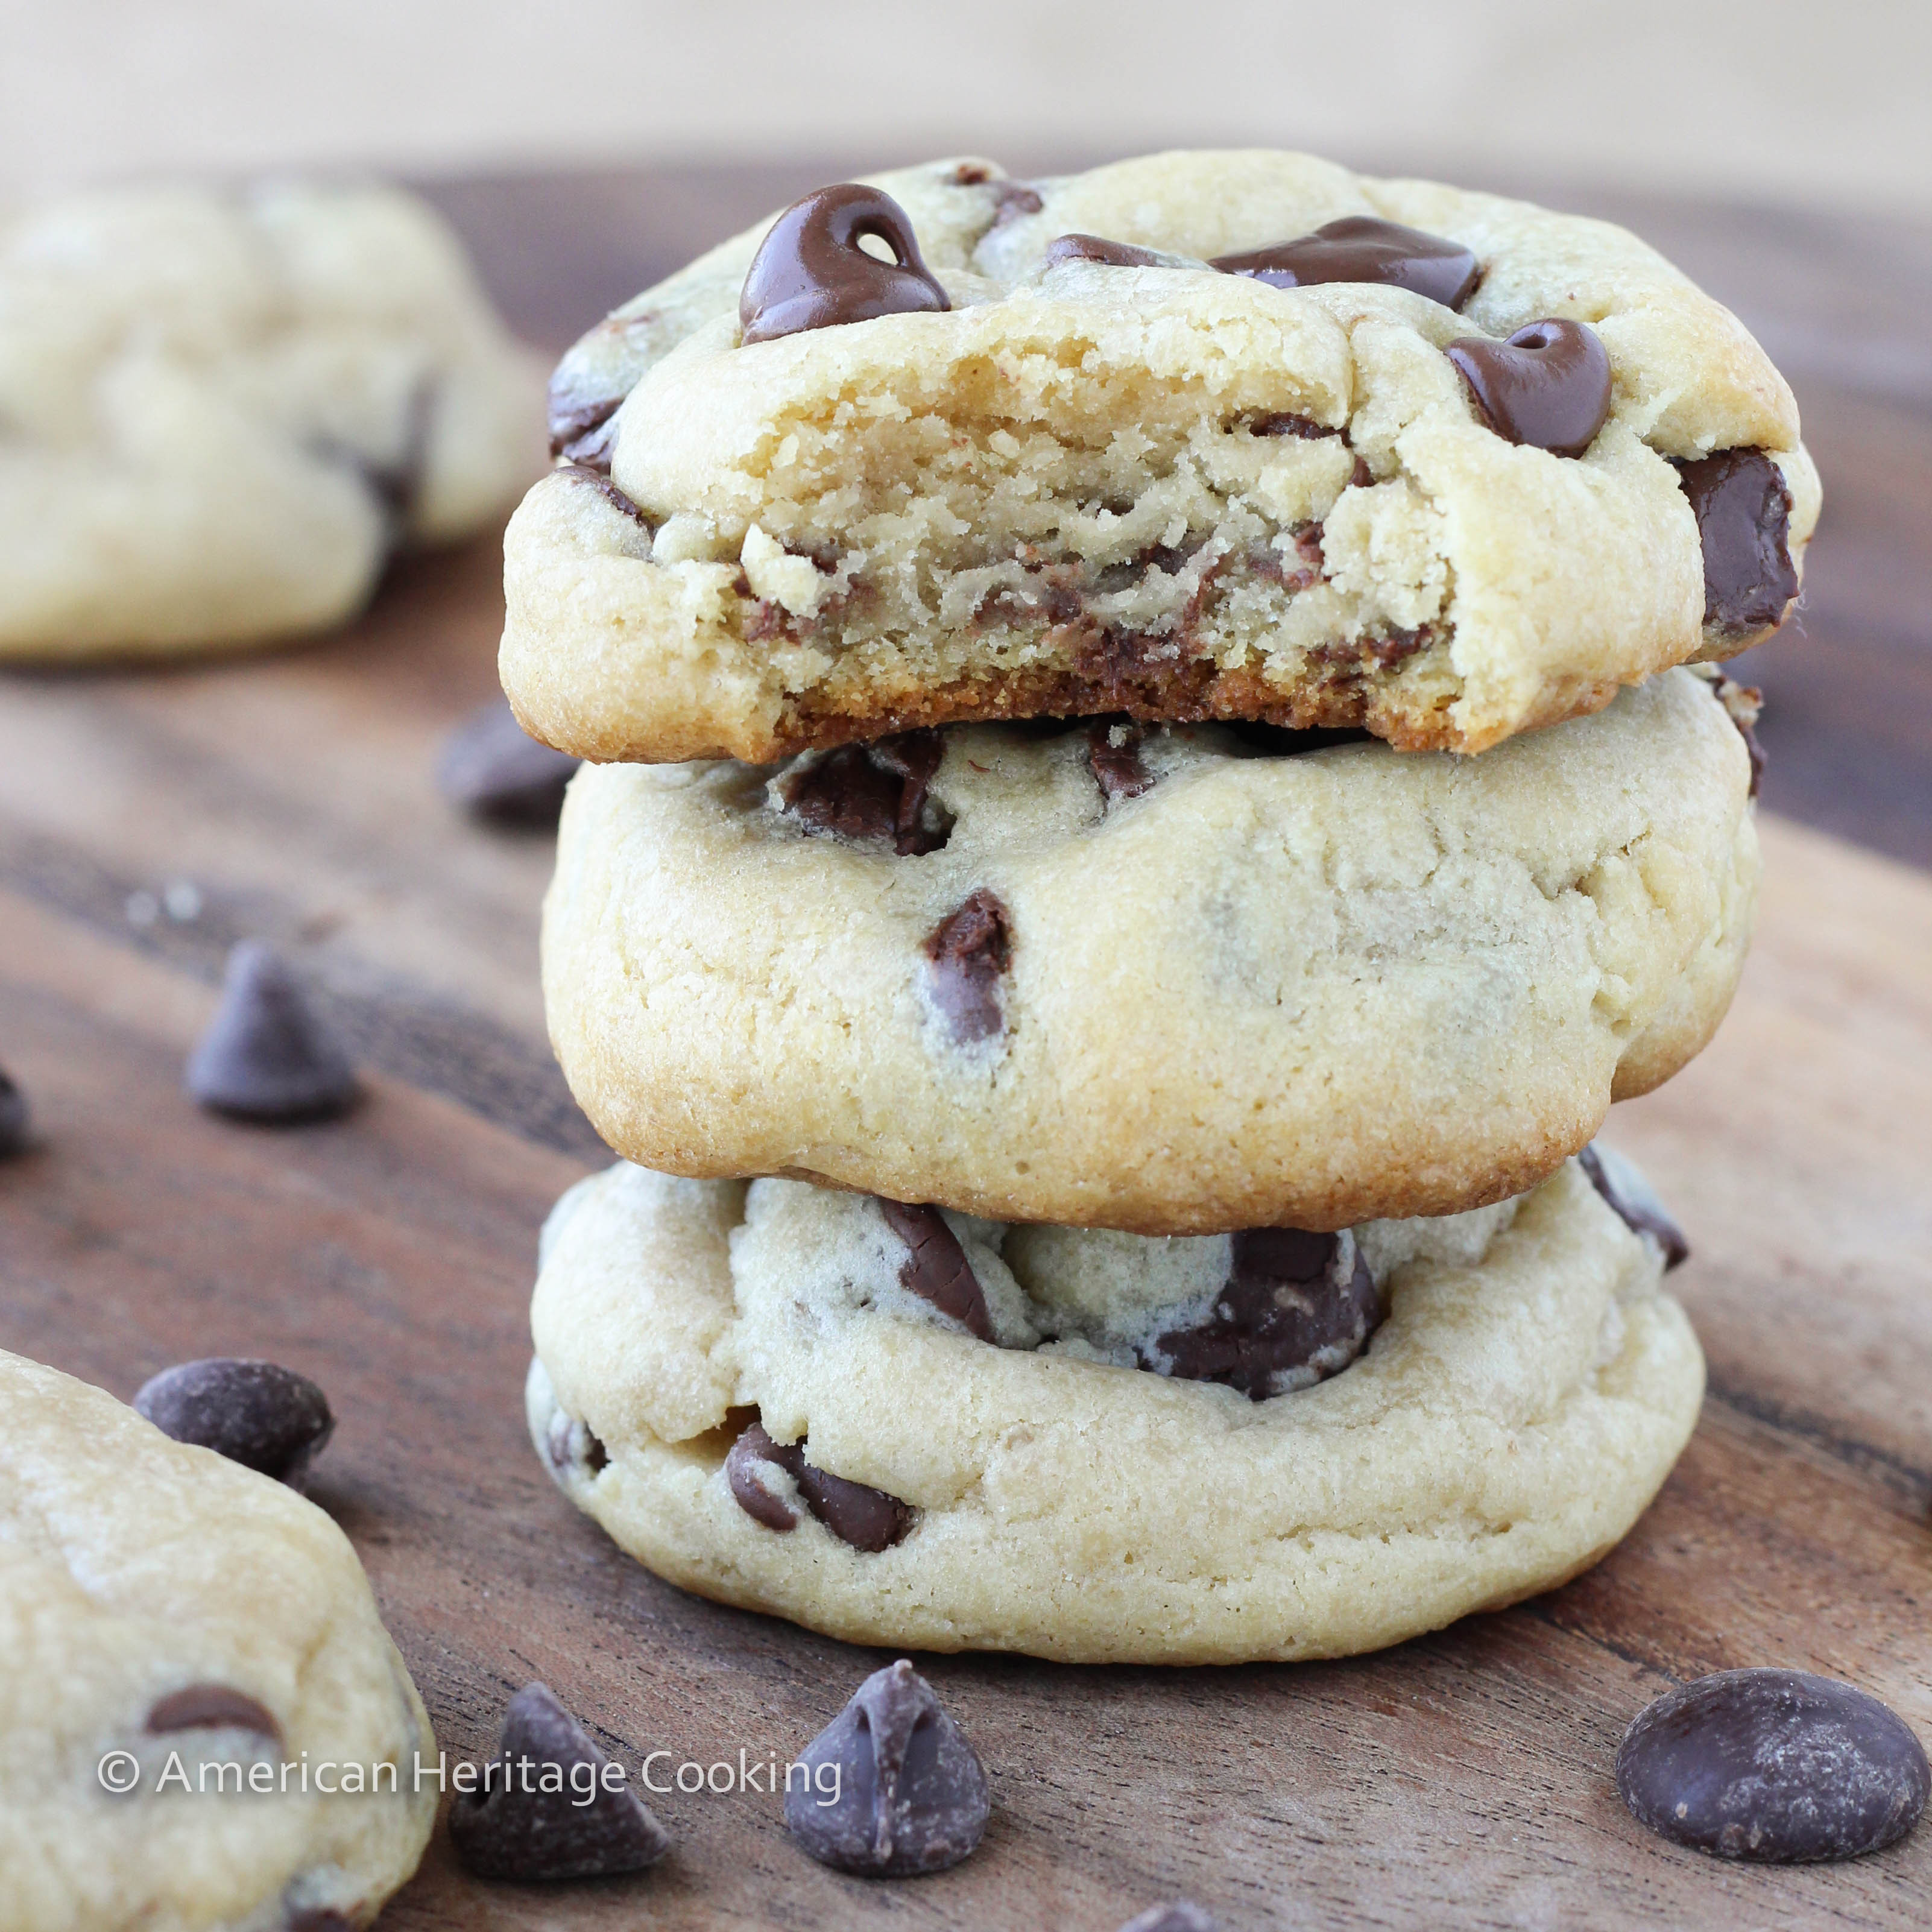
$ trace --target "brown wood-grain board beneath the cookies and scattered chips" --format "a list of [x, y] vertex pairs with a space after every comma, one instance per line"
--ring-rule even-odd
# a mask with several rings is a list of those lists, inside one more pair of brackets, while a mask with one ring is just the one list
[[[601, 193], [583, 187], [585, 232]], [[719, 201], [715, 226], [738, 213]], [[609, 296], [583, 290], [585, 313]], [[1932, 771], [1924, 616], [1886, 549], [1932, 502], [1909, 413], [1847, 404], [1841, 444], [1820, 439], [1849, 475], [1828, 464], [1833, 504], [1876, 518], [1874, 537], [1835, 512], [1847, 556], [1864, 543], [1893, 574], [1845, 562], [1791, 649], [1843, 688], [1839, 738], [1799, 709], [1801, 759], [1851, 757], [1882, 810], [1849, 829], [1901, 846], [1899, 800]], [[1861, 473], [1918, 495], [1861, 498]], [[303, 651], [0, 682], [0, 1065], [43, 1136], [0, 1165], [0, 1345], [124, 1397], [213, 1352], [323, 1381], [340, 1428], [315, 1495], [452, 1752], [487, 1752], [506, 1696], [543, 1677], [632, 1766], [784, 1758], [881, 1656], [655, 1582], [524, 1435], [535, 1231], [601, 1155], [543, 1041], [549, 844], [460, 821], [431, 781], [442, 730], [493, 688], [498, 612], [481, 543], [404, 564], [361, 624]], [[1847, 668], [1880, 661], [1895, 686]], [[1604, 1565], [1349, 1663], [922, 1660], [995, 1791], [983, 1849], [941, 1878], [837, 1878], [773, 1799], [670, 1795], [653, 1804], [678, 1849], [641, 1880], [483, 1888], [439, 1835], [383, 1924], [1111, 1932], [1175, 1893], [1229, 1932], [1924, 1924], [1932, 1826], [1851, 1866], [1743, 1870], [1640, 1832], [1609, 1776], [1648, 1698], [1741, 1663], [1851, 1677], [1932, 1739], [1932, 879], [1777, 819], [1766, 852], [1729, 1024], [1611, 1122], [1692, 1233], [1673, 1285], [1712, 1393]], [[249, 1130], [182, 1097], [245, 933], [290, 947], [355, 1039], [371, 1094], [350, 1119]]]

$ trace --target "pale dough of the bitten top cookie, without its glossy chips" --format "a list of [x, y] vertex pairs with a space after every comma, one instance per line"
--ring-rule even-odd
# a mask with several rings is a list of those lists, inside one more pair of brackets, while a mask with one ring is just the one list
[[[1791, 390], [1621, 228], [1267, 151], [873, 180], [949, 311], [742, 342], [767, 220], [564, 357], [564, 468], [506, 537], [502, 680], [537, 736], [771, 759], [1132, 711], [1480, 752], [1743, 649], [1797, 587], [1818, 477]], [[1208, 265], [1345, 216], [1449, 238], [1482, 280], [1455, 311]], [[1161, 259], [1049, 261], [1080, 232]], [[1445, 355], [1551, 317], [1609, 365], [1578, 458], [1505, 440]], [[1754, 466], [1729, 495], [1681, 475], [1714, 452]], [[1733, 520], [1708, 543], [1687, 483]], [[1779, 587], [1708, 595], [1706, 556], [1754, 568], [1752, 502]]]

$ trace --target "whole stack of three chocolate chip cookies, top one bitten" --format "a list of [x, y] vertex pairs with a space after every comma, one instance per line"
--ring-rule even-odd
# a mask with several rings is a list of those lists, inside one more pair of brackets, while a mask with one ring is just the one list
[[[1592, 1144], [1710, 1039], [1818, 483], [1629, 234], [1279, 153], [823, 189], [591, 330], [504, 684], [593, 759], [545, 997], [624, 1155], [529, 1420], [860, 1642], [1366, 1650], [1696, 1420]], [[636, 1163], [636, 1165], [630, 1165]]]

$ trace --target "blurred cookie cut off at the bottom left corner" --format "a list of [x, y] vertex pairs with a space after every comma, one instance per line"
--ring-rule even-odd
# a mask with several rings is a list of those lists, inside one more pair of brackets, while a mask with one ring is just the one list
[[0, 1354], [8, 1932], [363, 1926], [437, 1818], [417, 1754], [429, 1718], [328, 1517]]

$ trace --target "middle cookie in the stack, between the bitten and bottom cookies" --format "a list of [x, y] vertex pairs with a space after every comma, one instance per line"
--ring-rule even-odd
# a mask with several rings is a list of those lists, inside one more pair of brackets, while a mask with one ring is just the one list
[[[1349, 1227], [1530, 1186], [1731, 999], [1750, 761], [1690, 670], [1480, 759], [1115, 738], [585, 767], [543, 981], [605, 1140], [1007, 1221]], [[922, 796], [877, 763], [941, 752]], [[829, 829], [893, 794], [904, 827]]]

